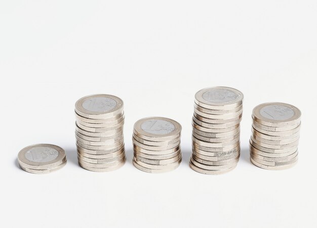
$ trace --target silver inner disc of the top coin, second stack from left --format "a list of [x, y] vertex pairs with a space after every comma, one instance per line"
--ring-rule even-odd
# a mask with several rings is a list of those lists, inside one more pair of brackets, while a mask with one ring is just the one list
[[111, 98], [95, 97], [83, 102], [83, 108], [92, 112], [108, 112], [116, 106]]

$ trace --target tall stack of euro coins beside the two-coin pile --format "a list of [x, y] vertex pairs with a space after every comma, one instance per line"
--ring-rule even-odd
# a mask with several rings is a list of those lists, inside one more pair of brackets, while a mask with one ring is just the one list
[[112, 171], [126, 162], [123, 101], [112, 95], [91, 95], [75, 104], [78, 163], [84, 169]]

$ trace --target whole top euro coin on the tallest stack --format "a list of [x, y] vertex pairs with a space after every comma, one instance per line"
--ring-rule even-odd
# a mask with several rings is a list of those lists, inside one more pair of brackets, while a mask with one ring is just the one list
[[228, 110], [242, 105], [243, 94], [234, 88], [217, 86], [204, 88], [195, 94], [195, 103], [207, 109]]

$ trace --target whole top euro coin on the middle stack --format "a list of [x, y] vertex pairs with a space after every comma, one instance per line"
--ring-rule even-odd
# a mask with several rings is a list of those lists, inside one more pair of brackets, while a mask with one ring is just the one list
[[[164, 117], [147, 117], [134, 124], [135, 134], [149, 141], [168, 141], [178, 138], [182, 130], [175, 120]], [[146, 138], [144, 138], [144, 136]]]

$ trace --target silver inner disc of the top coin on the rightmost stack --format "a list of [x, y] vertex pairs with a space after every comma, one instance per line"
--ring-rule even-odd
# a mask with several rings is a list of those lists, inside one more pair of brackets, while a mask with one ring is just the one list
[[283, 105], [269, 105], [260, 109], [260, 114], [271, 120], [288, 120], [294, 116], [294, 111]]

